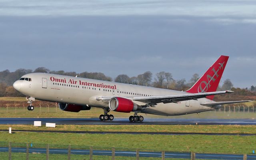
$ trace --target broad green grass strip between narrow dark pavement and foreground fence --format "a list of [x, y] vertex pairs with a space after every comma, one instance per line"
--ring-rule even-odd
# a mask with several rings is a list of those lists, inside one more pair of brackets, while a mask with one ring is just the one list
[[[72, 148], [174, 151], [196, 153], [250, 154], [256, 148], [256, 136], [148, 135], [148, 134], [58, 134], [0, 133], [0, 141], [50, 144], [51, 147], [70, 144]], [[57, 147], [58, 148], [58, 147]]]

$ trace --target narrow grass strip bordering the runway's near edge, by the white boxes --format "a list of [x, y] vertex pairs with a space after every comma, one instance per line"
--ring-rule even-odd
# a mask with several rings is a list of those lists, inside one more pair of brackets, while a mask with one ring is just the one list
[[256, 134], [255, 126], [234, 125], [57, 125], [56, 128], [35, 127], [22, 124], [1, 124], [0, 130], [68, 130], [68, 131], [102, 131], [102, 132], [196, 132], [196, 133], [235, 133]]

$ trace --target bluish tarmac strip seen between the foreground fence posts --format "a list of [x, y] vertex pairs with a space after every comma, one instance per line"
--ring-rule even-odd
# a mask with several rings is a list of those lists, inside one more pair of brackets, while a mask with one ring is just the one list
[[[8, 147], [0, 147], [0, 152], [8, 152]], [[12, 147], [12, 152], [26, 153], [26, 148]], [[29, 153], [46, 154], [46, 148], [29, 148]], [[68, 149], [50, 148], [50, 154], [68, 154]], [[89, 155], [90, 150], [71, 149], [71, 154]], [[112, 156], [112, 150], [93, 150], [93, 155]], [[115, 151], [115, 156], [135, 157], [136, 151]], [[161, 152], [139, 152], [140, 157], [161, 157]], [[165, 152], [165, 158], [190, 158], [189, 152]], [[215, 159], [215, 160], [242, 160], [242, 154], [199, 154], [196, 159]], [[248, 160], [256, 160], [255, 155], [247, 155]]]

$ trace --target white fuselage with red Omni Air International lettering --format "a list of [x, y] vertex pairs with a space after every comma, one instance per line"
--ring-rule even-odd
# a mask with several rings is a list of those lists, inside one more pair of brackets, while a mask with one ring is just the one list
[[[26, 96], [34, 97], [37, 100], [88, 105], [99, 108], [109, 107], [108, 104], [102, 102], [102, 100], [97, 100], [97, 97], [102, 96], [132, 99], [132, 97], [142, 96], [189, 94], [176, 90], [122, 84], [88, 78], [76, 78], [56, 74], [31, 73], [22, 77], [31, 78], [31, 81], [17, 80], [15, 82], [15, 89]], [[144, 103], [135, 100], [133, 102], [139, 105], [145, 105]], [[207, 98], [200, 98], [198, 100], [187, 100], [178, 103], [159, 103], [156, 107], [147, 107], [144, 108], [144, 110], [141, 110], [141, 112], [174, 116], [218, 109], [200, 105], [200, 103], [206, 102], [214, 101]]]

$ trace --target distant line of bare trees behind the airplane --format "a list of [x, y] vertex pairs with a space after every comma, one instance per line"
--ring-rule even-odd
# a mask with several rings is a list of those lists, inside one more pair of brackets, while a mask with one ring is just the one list
[[[76, 72], [65, 72], [64, 70], [51, 71], [44, 67], [36, 68], [34, 71], [26, 70], [22, 68], [14, 72], [10, 72], [9, 70], [4, 70], [0, 72], [0, 96], [22, 96], [20, 93], [14, 90], [14, 88], [12, 87], [12, 84], [24, 74], [28, 74], [32, 72], [52, 73], [52, 74], [60, 74], [60, 75], [66, 75], [66, 76], [77, 75], [78, 77], [81, 77], [81, 78], [113, 81], [111, 77], [105, 76], [105, 74], [100, 72], [76, 73]], [[133, 76], [133, 77], [129, 77], [126, 74], [120, 74], [114, 79], [114, 82], [136, 84], [141, 86], [152, 86], [152, 87], [166, 88], [166, 89], [172, 89], [172, 90], [188, 90], [200, 78], [198, 74], [193, 74], [192, 78], [188, 81], [186, 81], [185, 79], [174, 80], [171, 73], [164, 72], [164, 71], [156, 73], [155, 77], [156, 78], [152, 80], [153, 74], [150, 71], [147, 71], [143, 74], [139, 74], [138, 76]], [[236, 91], [234, 94], [231, 94], [231, 95], [229, 94], [231, 97], [232, 95], [256, 96], [256, 87], [251, 86], [250, 89], [233, 88], [233, 84], [230, 79], [226, 79], [223, 85], [218, 87], [218, 90]]]

